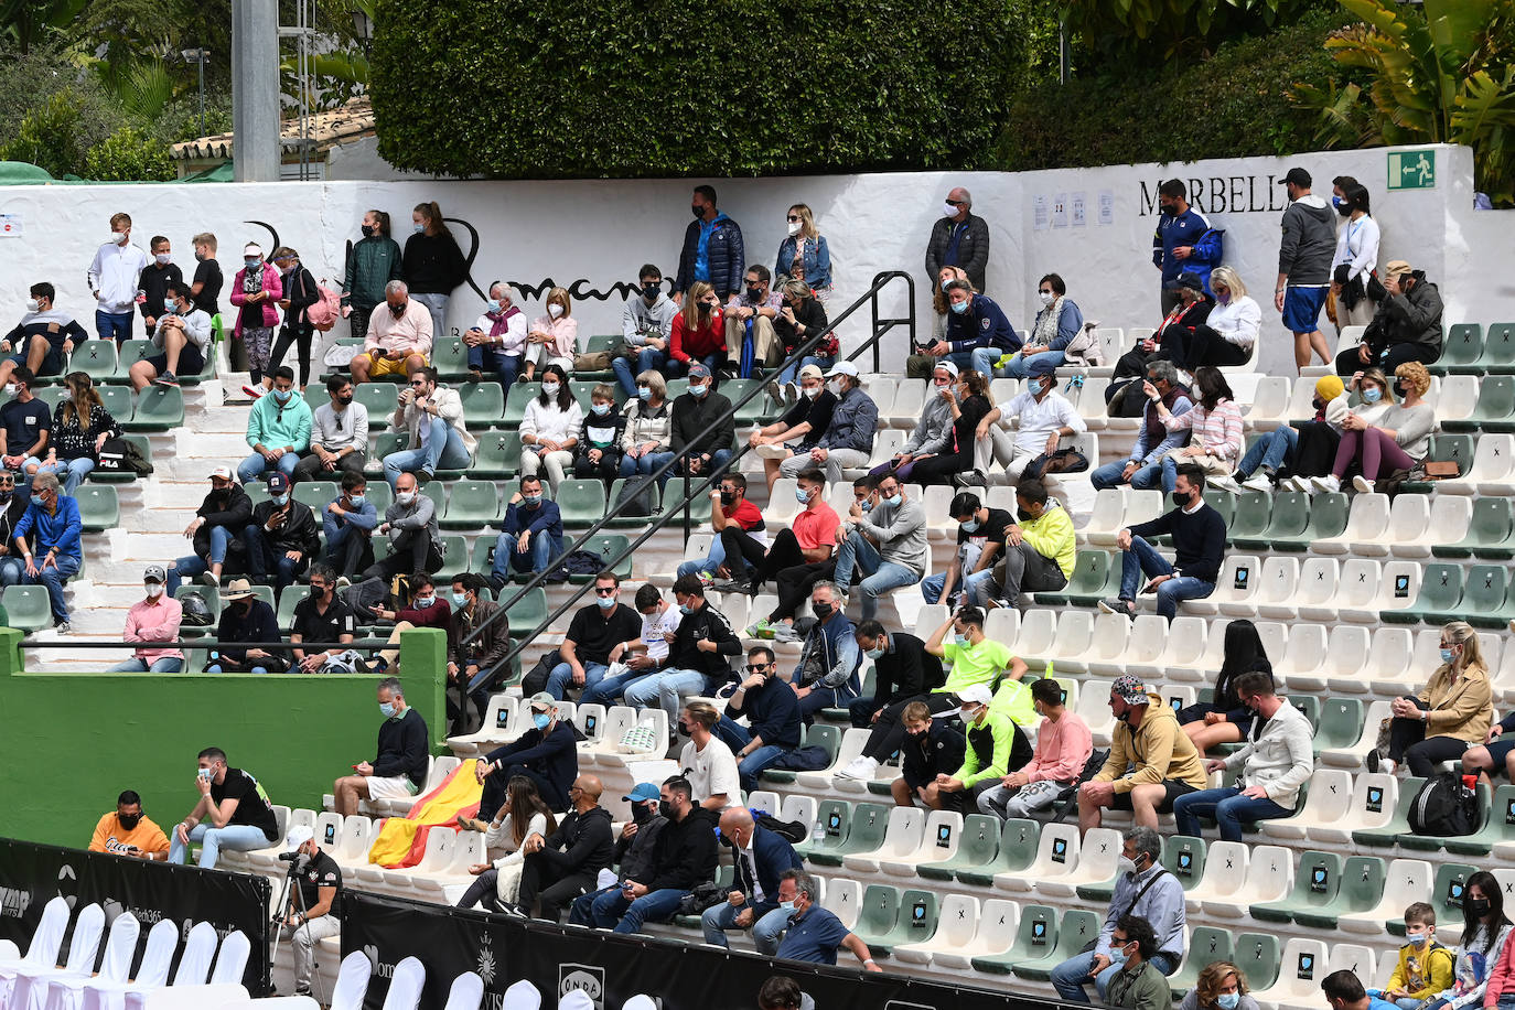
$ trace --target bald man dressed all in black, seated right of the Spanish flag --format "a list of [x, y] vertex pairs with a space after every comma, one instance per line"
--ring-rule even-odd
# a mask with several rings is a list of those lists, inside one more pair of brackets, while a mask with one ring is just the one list
[[564, 906], [594, 889], [600, 871], [611, 865], [611, 812], [600, 806], [604, 786], [594, 775], [579, 775], [568, 786], [568, 812], [550, 836], [527, 834], [521, 842], [526, 862], [517, 895], [520, 912], [530, 915], [541, 898], [538, 918], [558, 922]]

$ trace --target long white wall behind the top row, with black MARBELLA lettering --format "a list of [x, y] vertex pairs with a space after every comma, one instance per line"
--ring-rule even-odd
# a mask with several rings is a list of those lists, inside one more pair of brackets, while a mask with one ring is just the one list
[[[1291, 341], [1268, 307], [1277, 273], [1279, 218], [1283, 188], [1277, 179], [1304, 165], [1317, 191], [1329, 195], [1330, 179], [1356, 176], [1374, 198], [1383, 227], [1380, 262], [1409, 259], [1436, 280], [1448, 301], [1447, 321], [1515, 318], [1507, 307], [1515, 280], [1503, 270], [1510, 251], [1512, 212], [1471, 210], [1473, 159], [1467, 148], [1436, 148], [1438, 186], [1423, 191], [1385, 188], [1386, 150], [1327, 151], [1288, 159], [1227, 159], [1192, 165], [1127, 165], [1041, 173], [892, 173], [788, 179], [715, 180], [720, 206], [742, 224], [748, 262], [773, 267], [785, 235], [785, 209], [804, 201], [817, 214], [832, 248], [836, 274], [833, 310], [862, 294], [876, 273], [906, 270], [915, 280], [918, 324], [930, 326], [924, 250], [947, 189], [973, 191], [974, 212], [988, 220], [991, 253], [988, 294], [1001, 301], [1017, 327], [1032, 318], [1032, 294], [1044, 273], [1059, 273], [1086, 318], [1109, 326], [1156, 326], [1157, 271], [1150, 262], [1157, 182], [1179, 176], [1203, 192], [1195, 201], [1212, 224], [1226, 229], [1226, 260], [1236, 267], [1265, 306], [1264, 366], [1292, 373]], [[689, 191], [698, 180], [582, 182], [323, 182], [264, 185], [161, 186], [11, 186], [0, 191], [0, 215], [20, 215], [20, 235], [0, 233], [0, 313], [18, 315], [35, 280], [59, 286], [59, 304], [92, 329], [92, 300], [85, 268], [109, 232], [108, 218], [127, 210], [133, 239], [145, 247], [155, 233], [174, 242], [182, 268], [192, 265], [189, 236], [212, 230], [221, 239], [221, 262], [235, 270], [241, 245], [256, 239], [270, 248], [267, 223], [279, 239], [300, 250], [318, 277], [339, 280], [345, 244], [358, 238], [364, 209], [379, 206], [395, 217], [397, 238], [409, 229], [409, 209], [438, 200], [448, 218], [479, 230], [473, 279], [480, 288], [508, 279], [539, 285], [582, 282], [608, 289], [633, 282], [651, 260], [671, 274], [688, 224]], [[1195, 183], [1198, 183], [1195, 186]], [[1210, 194], [1221, 188], [1224, 203]], [[1086, 220], [1067, 227], [1036, 227], [1036, 201], [1085, 195]], [[1110, 197], [1110, 221], [1100, 224], [1100, 197]], [[1051, 210], [1051, 209], [1050, 209]], [[14, 221], [15, 218], [12, 218]], [[467, 251], [470, 239], [454, 229]], [[230, 277], [230, 271], [229, 271]], [[467, 326], [480, 298], [459, 289], [451, 326]], [[903, 309], [903, 286], [883, 298], [883, 310]], [[615, 332], [620, 300], [576, 303], [582, 333]], [[867, 309], [844, 330], [847, 342], [867, 333]], [[923, 329], [924, 332], [924, 329]], [[903, 335], [889, 359], [903, 356]]]

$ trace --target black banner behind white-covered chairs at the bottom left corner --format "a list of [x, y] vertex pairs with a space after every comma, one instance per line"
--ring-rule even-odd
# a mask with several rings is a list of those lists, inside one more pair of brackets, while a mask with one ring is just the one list
[[[247, 934], [251, 952], [242, 986], [258, 996], [268, 992], [271, 890], [268, 878], [258, 875], [0, 839], [0, 939], [14, 940], [23, 952], [42, 918], [42, 907], [58, 895], [76, 913], [98, 902], [108, 933], [120, 913], [136, 916], [142, 933], [132, 960], [133, 972], [148, 931], [161, 919], [179, 922], [180, 948], [194, 924], [209, 922], [218, 937], [235, 930]], [[100, 951], [105, 951], [103, 937]]]

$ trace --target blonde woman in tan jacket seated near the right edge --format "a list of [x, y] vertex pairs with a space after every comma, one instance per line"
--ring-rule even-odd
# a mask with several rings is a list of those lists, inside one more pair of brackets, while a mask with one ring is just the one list
[[[1417, 362], [1412, 362], [1417, 363]], [[1404, 365], [1400, 365], [1404, 368]], [[1494, 722], [1494, 692], [1483, 662], [1479, 633], [1467, 621], [1441, 628], [1441, 666], [1418, 695], [1401, 695], [1389, 710], [1389, 743], [1368, 751], [1368, 771], [1429, 777], [1441, 762], [1462, 757], [1482, 745]]]

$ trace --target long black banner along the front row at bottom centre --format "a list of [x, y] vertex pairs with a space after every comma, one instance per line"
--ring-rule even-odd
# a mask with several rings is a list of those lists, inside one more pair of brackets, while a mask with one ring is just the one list
[[342, 890], [342, 955], [353, 951], [374, 966], [367, 1010], [383, 1005], [394, 966], [412, 955], [426, 965], [421, 1010], [442, 1010], [464, 972], [483, 978], [483, 1010], [500, 1010], [504, 990], [521, 978], [542, 993], [542, 1010], [554, 1010], [570, 989], [582, 989], [595, 1010], [618, 1010], [636, 993], [654, 996], [662, 1010], [751, 1010], [773, 975], [794, 978], [818, 1007], [1044, 1010], [1050, 1002]]

